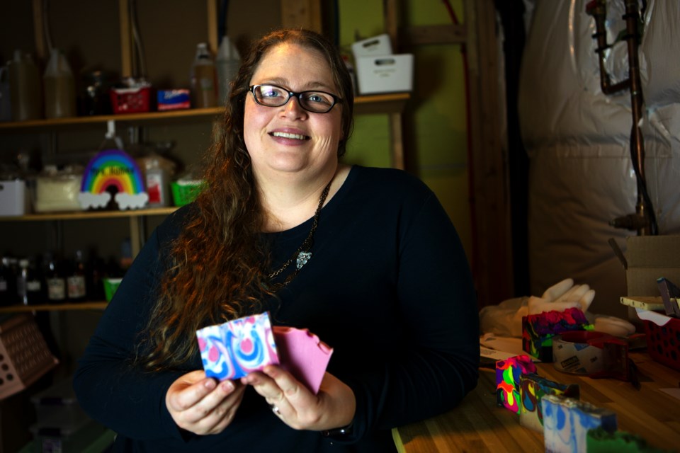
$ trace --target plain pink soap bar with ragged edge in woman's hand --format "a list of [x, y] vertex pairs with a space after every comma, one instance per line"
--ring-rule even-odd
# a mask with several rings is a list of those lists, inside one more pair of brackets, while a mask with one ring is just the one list
[[273, 331], [280, 366], [317, 394], [333, 348], [306, 328], [274, 326]]

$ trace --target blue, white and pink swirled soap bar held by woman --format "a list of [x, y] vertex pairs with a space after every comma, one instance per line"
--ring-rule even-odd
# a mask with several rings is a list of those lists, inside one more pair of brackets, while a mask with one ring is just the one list
[[279, 362], [267, 312], [201, 328], [196, 336], [206, 377], [238, 379]]

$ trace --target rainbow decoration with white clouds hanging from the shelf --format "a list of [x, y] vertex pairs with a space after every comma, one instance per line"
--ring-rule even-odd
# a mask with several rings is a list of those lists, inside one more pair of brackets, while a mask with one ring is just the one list
[[104, 208], [112, 194], [119, 210], [139, 209], [149, 200], [140, 167], [121, 149], [100, 151], [89, 161], [78, 200], [84, 210]]

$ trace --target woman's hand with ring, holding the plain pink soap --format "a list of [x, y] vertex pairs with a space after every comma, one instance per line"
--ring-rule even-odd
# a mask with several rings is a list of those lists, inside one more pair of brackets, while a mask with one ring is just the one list
[[274, 413], [296, 430], [330, 430], [349, 425], [354, 418], [356, 398], [352, 389], [330, 373], [324, 374], [316, 395], [276, 365], [252, 372], [241, 382], [253, 386]]

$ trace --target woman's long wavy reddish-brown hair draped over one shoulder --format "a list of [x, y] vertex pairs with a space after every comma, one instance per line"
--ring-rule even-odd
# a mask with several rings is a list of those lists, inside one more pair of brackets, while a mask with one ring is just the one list
[[[243, 138], [249, 84], [268, 50], [293, 43], [319, 52], [329, 64], [342, 108], [338, 156], [353, 127], [353, 86], [343, 59], [324, 36], [304, 29], [276, 30], [256, 41], [232, 82], [224, 121], [203, 161], [205, 190], [177, 239], [137, 360], [147, 369], [176, 367], [198, 349], [196, 330], [259, 312], [270, 297], [268, 251], [261, 241], [265, 213]], [[264, 263], [264, 264], [263, 264]]]

